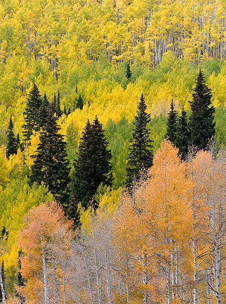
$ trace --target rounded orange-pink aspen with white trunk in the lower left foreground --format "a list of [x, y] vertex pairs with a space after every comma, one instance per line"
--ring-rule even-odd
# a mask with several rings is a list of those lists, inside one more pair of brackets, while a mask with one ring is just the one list
[[[58, 280], [61, 281], [61, 274], [63, 278], [65, 274], [65, 257], [60, 255], [61, 248], [57, 246], [62, 246], [66, 255], [68, 242], [72, 237], [72, 223], [67, 221], [62, 208], [55, 202], [32, 208], [24, 218], [24, 228], [19, 234], [18, 245], [25, 252], [21, 258], [21, 274], [28, 278], [21, 292], [29, 303], [50, 304], [52, 294], [56, 302], [56, 268], [53, 267], [53, 260], [58, 261]], [[62, 284], [65, 293], [65, 282], [61, 282]], [[65, 303], [65, 294], [63, 298]]]

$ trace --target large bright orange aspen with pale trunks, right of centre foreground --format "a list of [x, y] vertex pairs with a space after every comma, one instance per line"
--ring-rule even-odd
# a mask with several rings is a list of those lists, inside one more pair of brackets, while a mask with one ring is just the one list
[[[187, 206], [189, 182], [185, 178], [185, 164], [181, 162], [170, 141], [164, 140], [154, 157], [150, 178], [143, 185], [138, 207], [149, 235], [155, 239], [156, 261], [159, 269], [160, 294], [157, 300], [170, 304], [183, 300], [180, 290], [183, 266], [179, 260], [187, 259], [187, 239], [192, 215]], [[162, 277], [162, 280], [161, 280]]]

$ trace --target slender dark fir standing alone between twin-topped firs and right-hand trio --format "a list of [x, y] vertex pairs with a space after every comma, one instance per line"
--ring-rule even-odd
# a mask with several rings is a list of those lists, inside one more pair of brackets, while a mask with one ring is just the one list
[[141, 171], [145, 171], [153, 164], [153, 146], [150, 140], [150, 132], [147, 124], [150, 122], [150, 114], [146, 112], [146, 104], [143, 94], [138, 103], [137, 116], [135, 117], [133, 138], [129, 147], [129, 155], [126, 166], [126, 186], [130, 187], [133, 180], [140, 178]]

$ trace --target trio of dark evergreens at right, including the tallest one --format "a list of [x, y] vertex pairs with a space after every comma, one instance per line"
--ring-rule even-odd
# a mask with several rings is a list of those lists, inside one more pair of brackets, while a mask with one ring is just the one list
[[167, 138], [179, 148], [182, 159], [185, 159], [190, 146], [205, 149], [215, 135], [214, 112], [211, 105], [211, 91], [205, 84], [202, 70], [193, 90], [191, 104], [191, 115], [187, 119], [186, 111], [182, 107], [178, 117], [171, 102], [167, 121]]

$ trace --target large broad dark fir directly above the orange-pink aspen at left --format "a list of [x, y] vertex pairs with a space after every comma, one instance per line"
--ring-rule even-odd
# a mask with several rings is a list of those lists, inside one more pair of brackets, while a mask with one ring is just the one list
[[66, 155], [66, 142], [59, 134], [52, 107], [40, 133], [34, 163], [31, 166], [30, 183], [43, 181], [55, 199], [65, 208], [68, 202], [69, 169]]

